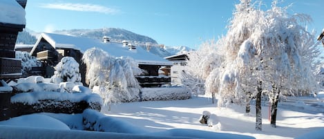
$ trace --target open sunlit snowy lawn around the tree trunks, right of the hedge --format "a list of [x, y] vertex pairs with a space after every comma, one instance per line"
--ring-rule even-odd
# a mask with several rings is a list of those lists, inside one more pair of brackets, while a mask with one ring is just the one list
[[[221, 126], [207, 127], [200, 124], [202, 111], [216, 114]], [[280, 102], [277, 127], [273, 128], [268, 120], [269, 108], [263, 104], [263, 131], [255, 130], [255, 109], [245, 115], [244, 106], [217, 108], [209, 98], [198, 97], [189, 100], [132, 102], [115, 104], [111, 111], [103, 111], [108, 116], [128, 121], [147, 131], [164, 131], [165, 129], [198, 129], [220, 133], [235, 133], [255, 138], [296, 138], [324, 129], [324, 105], [308, 106], [301, 102]], [[324, 133], [321, 135], [324, 137]], [[312, 136], [307, 136], [311, 138]], [[212, 138], [212, 137], [211, 137]]]

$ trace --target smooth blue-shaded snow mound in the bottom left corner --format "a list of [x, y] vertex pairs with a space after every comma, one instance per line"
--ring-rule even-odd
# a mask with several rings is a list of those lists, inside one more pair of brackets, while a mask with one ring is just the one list
[[70, 128], [63, 122], [56, 120], [55, 118], [51, 118], [50, 116], [41, 114], [22, 115], [17, 118], [1, 121], [0, 124], [14, 127], [70, 130]]

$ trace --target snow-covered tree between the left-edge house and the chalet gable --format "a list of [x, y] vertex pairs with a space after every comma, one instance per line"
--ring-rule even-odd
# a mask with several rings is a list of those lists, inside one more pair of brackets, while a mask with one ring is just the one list
[[21, 59], [21, 73], [23, 77], [27, 77], [32, 67], [41, 66], [41, 62], [36, 57], [30, 56], [28, 52], [16, 51], [16, 58]]

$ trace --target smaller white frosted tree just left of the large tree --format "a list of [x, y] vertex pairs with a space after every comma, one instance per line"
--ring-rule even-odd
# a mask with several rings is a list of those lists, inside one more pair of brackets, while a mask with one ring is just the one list
[[[191, 51], [188, 54], [188, 62], [186, 66], [186, 73], [182, 73], [182, 84], [188, 86], [194, 94], [211, 95], [214, 100], [214, 94], [217, 93], [218, 88], [211, 84], [218, 84], [217, 77], [211, 78], [210, 73], [218, 73], [217, 69], [220, 67], [221, 57], [218, 57], [217, 44], [214, 39], [205, 41], [200, 45], [199, 50]], [[218, 74], [214, 74], [218, 75]], [[204, 84], [206, 80], [212, 80], [211, 84]], [[205, 91], [207, 89], [207, 91]]]

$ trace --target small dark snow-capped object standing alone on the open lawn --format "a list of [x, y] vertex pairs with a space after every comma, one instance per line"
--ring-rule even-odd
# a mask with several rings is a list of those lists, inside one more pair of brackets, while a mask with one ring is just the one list
[[209, 111], [202, 111], [202, 116], [200, 117], [199, 122], [201, 124], [207, 124], [208, 127], [213, 127], [213, 129], [216, 130], [220, 130], [221, 127], [217, 115], [211, 114]]

